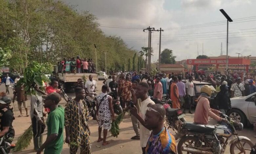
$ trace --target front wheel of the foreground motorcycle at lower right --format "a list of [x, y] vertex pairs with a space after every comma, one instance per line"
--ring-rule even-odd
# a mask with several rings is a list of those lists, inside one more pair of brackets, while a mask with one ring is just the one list
[[[251, 141], [246, 140], [246, 139], [242, 139], [241, 144], [243, 145], [243, 147], [245, 149], [245, 153], [250, 153], [251, 148], [254, 146], [254, 144]], [[233, 144], [231, 144], [230, 145], [230, 154], [243, 153], [242, 149], [241, 149], [241, 144], [239, 143], [239, 141], [236, 141]]]

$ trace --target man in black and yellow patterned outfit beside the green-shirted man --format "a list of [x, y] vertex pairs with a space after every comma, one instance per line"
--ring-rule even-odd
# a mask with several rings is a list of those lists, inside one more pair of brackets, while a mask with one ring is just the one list
[[65, 142], [69, 144], [71, 154], [76, 154], [79, 147], [81, 154], [91, 153], [90, 129], [86, 122], [89, 111], [84, 98], [85, 90], [76, 87], [75, 98], [65, 108]]

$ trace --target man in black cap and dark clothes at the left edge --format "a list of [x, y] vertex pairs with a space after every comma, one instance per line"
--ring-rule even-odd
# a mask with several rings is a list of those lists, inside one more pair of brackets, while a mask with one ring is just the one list
[[0, 98], [0, 137], [6, 136], [6, 141], [11, 143], [14, 137], [14, 129], [12, 121], [14, 119], [12, 113], [11, 98], [3, 96]]

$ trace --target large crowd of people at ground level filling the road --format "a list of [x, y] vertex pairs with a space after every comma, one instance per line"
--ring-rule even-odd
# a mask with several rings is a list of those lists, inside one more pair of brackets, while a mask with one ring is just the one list
[[[79, 57], [77, 57], [79, 60]], [[65, 61], [65, 59], [64, 59]], [[79, 60], [80, 61], [80, 60]], [[67, 62], [64, 62], [65, 70]], [[87, 62], [86, 59], [83, 62]], [[63, 66], [64, 66], [63, 65]], [[79, 68], [79, 67], [77, 67]], [[87, 68], [87, 67], [83, 67]], [[62, 68], [63, 69], [63, 68]], [[75, 68], [74, 68], [75, 69]], [[80, 69], [77, 69], [79, 72]], [[81, 71], [81, 70], [80, 70]], [[84, 72], [88, 72], [84, 69]], [[90, 70], [92, 71], [92, 70]], [[130, 110], [131, 120], [135, 136], [132, 140], [140, 140], [142, 153], [177, 153], [176, 141], [171, 132], [164, 126], [165, 122], [165, 106], [155, 104], [152, 100], [162, 100], [163, 97], [172, 100], [172, 108], [182, 108], [183, 113], [192, 114], [191, 107], [195, 103], [195, 88], [193, 81], [211, 83], [216, 91], [215, 108], [210, 107], [209, 98], [212, 95], [212, 88], [205, 85], [201, 88], [201, 95], [197, 100], [195, 109], [194, 122], [196, 124], [208, 124], [208, 117], [212, 117], [216, 121], [225, 122], [221, 118], [221, 113], [231, 107], [230, 98], [252, 94], [256, 92], [255, 82], [251, 78], [242, 79], [234, 74], [221, 75], [220, 73], [211, 73], [199, 75], [197, 72], [182, 74], [149, 74], [148, 72], [139, 73], [136, 71], [112, 73], [104, 85], [101, 87], [101, 94], [96, 96], [96, 115], [98, 122], [98, 140], [102, 145], [110, 144], [106, 140], [107, 132], [111, 127], [111, 121], [115, 120], [114, 110], [112, 106], [113, 99], [119, 99], [124, 110]], [[9, 77], [10, 78], [10, 77]], [[8, 75], [3, 81], [6, 85], [10, 85], [11, 81]], [[17, 78], [18, 80], [18, 78]], [[15, 79], [15, 82], [17, 82]], [[7, 87], [7, 86], [6, 86]], [[9, 87], [9, 86], [8, 86]], [[34, 87], [36, 94], [31, 96], [30, 114], [26, 106], [25, 91], [23, 87], [14, 87], [14, 95], [17, 96], [18, 108], [20, 110], [19, 117], [23, 116], [21, 106], [23, 104], [26, 110], [26, 116], [31, 117], [34, 150], [40, 154], [44, 153], [61, 153], [64, 140], [64, 129], [66, 132], [65, 142], [70, 146], [70, 153], [91, 153], [90, 146], [90, 128], [87, 124], [89, 120], [89, 110], [86, 101], [86, 95], [93, 95], [96, 92], [97, 84], [93, 80], [93, 76], [89, 76], [89, 80], [84, 83], [78, 80], [78, 87], [75, 88], [75, 98], [70, 100], [65, 108], [59, 105], [61, 101], [61, 92], [58, 88], [58, 82], [52, 80], [48, 87], [43, 84], [42, 87]], [[9, 91], [1, 93], [0, 107], [6, 108], [8, 112], [3, 114], [7, 117], [1, 121], [0, 137], [8, 133], [10, 142], [13, 140], [14, 129], [12, 121], [14, 119], [12, 113], [11, 98], [5, 96]], [[107, 92], [114, 92], [112, 96]], [[13, 98], [13, 102], [15, 100]], [[43, 110], [43, 103], [45, 110]], [[10, 110], [10, 111], [9, 111]], [[46, 128], [44, 116], [47, 117], [47, 139], [42, 142], [42, 133]], [[103, 128], [103, 138], [101, 132]], [[11, 135], [13, 134], [13, 135]]]

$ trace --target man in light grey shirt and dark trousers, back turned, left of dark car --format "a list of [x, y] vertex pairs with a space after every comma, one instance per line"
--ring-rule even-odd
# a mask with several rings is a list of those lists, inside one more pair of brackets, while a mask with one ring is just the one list
[[189, 113], [192, 114], [191, 106], [195, 101], [194, 100], [195, 99], [195, 89], [194, 89], [193, 77], [189, 76], [188, 79], [189, 79], [189, 81], [185, 83], [187, 99], [185, 102], [183, 113], [186, 113], [186, 108], [189, 108]]

